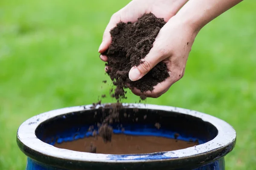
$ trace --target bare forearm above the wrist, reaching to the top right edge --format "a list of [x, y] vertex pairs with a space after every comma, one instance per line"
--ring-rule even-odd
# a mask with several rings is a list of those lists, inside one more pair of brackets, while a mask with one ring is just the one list
[[176, 17], [186, 20], [198, 31], [242, 0], [189, 0]]

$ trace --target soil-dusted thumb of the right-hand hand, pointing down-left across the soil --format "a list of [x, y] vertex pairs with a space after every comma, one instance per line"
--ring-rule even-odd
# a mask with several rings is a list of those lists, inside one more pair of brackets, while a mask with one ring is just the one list
[[154, 66], [156, 66], [160, 61], [162, 61], [163, 53], [157, 48], [152, 48], [148, 55], [142, 59], [142, 63], [139, 66], [134, 66], [129, 72], [129, 78], [131, 81], [137, 81], [143, 78]]

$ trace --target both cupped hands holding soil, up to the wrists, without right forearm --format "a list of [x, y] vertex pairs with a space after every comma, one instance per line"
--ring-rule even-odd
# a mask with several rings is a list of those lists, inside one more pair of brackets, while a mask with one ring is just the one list
[[[153, 13], [167, 22], [157, 35], [153, 47], [143, 59], [143, 63], [134, 66], [129, 72], [131, 81], [137, 81], [147, 74], [157, 63], [166, 63], [170, 77], [154, 87], [153, 92], [144, 92], [147, 97], [157, 98], [165, 93], [172, 84], [180, 80], [185, 72], [186, 61], [191, 46], [198, 33], [198, 26], [176, 17], [175, 14], [187, 0], [133, 0], [111, 17], [105, 29], [99, 52], [105, 52], [111, 44], [110, 30], [119, 22], [136, 22], [145, 13]], [[103, 61], [107, 56], [100, 55]], [[140, 90], [131, 89], [135, 95], [141, 95]]]

